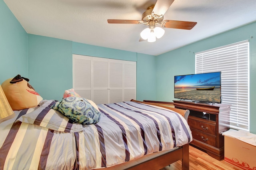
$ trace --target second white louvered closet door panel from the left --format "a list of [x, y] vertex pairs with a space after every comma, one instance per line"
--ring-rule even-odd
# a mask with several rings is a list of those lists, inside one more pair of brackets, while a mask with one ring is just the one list
[[92, 101], [108, 102], [108, 59], [92, 57]]

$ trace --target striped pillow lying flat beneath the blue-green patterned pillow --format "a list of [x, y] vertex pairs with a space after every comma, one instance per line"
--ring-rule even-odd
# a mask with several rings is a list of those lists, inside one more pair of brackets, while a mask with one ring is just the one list
[[58, 132], [80, 132], [83, 131], [81, 124], [73, 123], [59, 111], [50, 109], [56, 101], [43, 100], [38, 109], [21, 116], [16, 121], [39, 125]]

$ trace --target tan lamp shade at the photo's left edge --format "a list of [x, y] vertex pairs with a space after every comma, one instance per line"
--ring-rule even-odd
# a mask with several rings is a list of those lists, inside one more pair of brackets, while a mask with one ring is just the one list
[[0, 123], [14, 117], [14, 112], [0, 85]]

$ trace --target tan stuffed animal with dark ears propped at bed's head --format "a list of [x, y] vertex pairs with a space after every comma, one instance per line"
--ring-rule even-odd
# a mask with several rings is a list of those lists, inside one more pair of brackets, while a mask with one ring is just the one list
[[21, 110], [37, 106], [42, 97], [28, 83], [29, 79], [17, 75], [2, 83], [2, 89], [12, 110]]

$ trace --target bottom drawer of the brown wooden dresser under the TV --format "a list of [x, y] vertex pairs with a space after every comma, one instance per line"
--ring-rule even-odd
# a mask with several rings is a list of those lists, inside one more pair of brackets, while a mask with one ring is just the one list
[[216, 136], [200, 132], [199, 130], [191, 128], [192, 136], [194, 139], [216, 147]]

